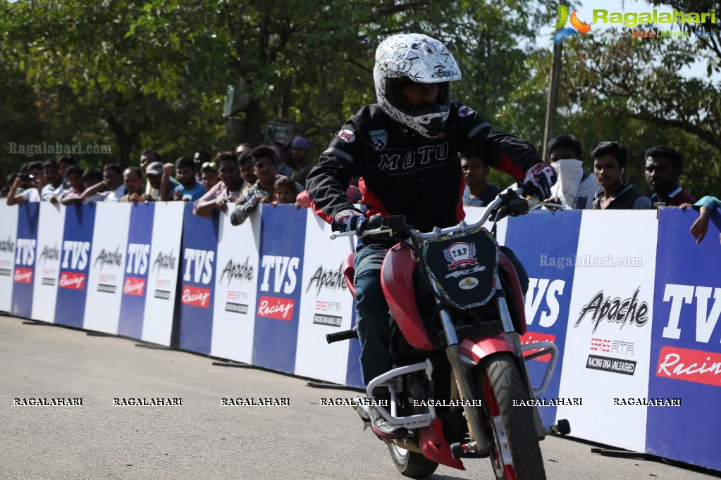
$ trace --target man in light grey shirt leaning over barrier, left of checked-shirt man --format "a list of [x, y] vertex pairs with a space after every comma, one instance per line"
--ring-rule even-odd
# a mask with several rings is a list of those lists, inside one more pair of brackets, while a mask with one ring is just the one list
[[244, 181], [238, 171], [235, 153], [218, 153], [216, 158], [213, 158], [213, 162], [218, 164], [220, 181], [193, 204], [193, 214], [198, 215], [198, 217], [210, 218], [215, 209], [227, 212], [228, 204], [239, 199], [241, 190], [244, 188]]

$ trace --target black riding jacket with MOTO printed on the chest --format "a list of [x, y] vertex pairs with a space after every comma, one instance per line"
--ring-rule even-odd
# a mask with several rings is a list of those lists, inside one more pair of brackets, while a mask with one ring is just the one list
[[366, 216], [405, 215], [421, 231], [450, 227], [464, 218], [459, 152], [521, 183], [528, 168], [541, 163], [525, 142], [495, 130], [459, 101], [451, 102], [446, 127], [435, 138], [407, 130], [373, 104], [336, 133], [306, 187], [314, 210], [327, 222], [342, 210], [357, 209], [343, 193], [356, 176]]

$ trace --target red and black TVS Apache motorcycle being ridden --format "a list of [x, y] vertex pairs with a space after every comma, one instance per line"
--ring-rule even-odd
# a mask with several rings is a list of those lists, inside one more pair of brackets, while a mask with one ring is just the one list
[[[430, 476], [439, 463], [464, 470], [462, 458], [489, 457], [497, 479], [545, 479], [539, 440], [570, 432], [565, 420], [544, 429], [538, 407], [528, 406], [546, 389], [558, 349], [551, 342], [521, 345], [526, 317], [516, 269], [482, 227], [489, 218], [527, 213], [523, 194], [509, 189], [472, 224], [423, 233], [404, 217], [376, 217], [381, 225], [361, 234], [402, 238], [381, 267], [397, 368], [373, 379], [368, 401], [354, 408], [367, 426], [368, 404], [382, 403], [374, 392], [390, 391], [389, 409], [374, 408], [408, 435], [379, 438], [405, 476]], [[345, 279], [355, 296], [353, 274], [351, 254]], [[350, 338], [355, 330], [327, 335], [328, 343]], [[525, 362], [549, 354], [536, 388]]]

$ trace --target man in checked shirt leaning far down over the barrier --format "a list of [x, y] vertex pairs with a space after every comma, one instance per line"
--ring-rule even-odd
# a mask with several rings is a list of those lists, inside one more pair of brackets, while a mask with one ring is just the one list
[[[258, 177], [255, 184], [249, 186], [244, 196], [236, 201], [235, 210], [231, 213], [230, 222], [232, 225], [240, 225], [245, 219], [255, 212], [259, 203], [269, 203], [275, 196], [275, 181], [283, 178], [283, 175], [275, 173], [275, 150], [267, 145], [260, 145], [250, 153], [253, 155], [255, 175]], [[297, 185], [298, 191], [303, 186]]]

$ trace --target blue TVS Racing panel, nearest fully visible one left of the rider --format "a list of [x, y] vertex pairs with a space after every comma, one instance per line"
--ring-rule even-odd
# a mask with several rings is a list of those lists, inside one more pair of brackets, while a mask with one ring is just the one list
[[262, 207], [253, 365], [295, 370], [306, 219], [290, 205]]

